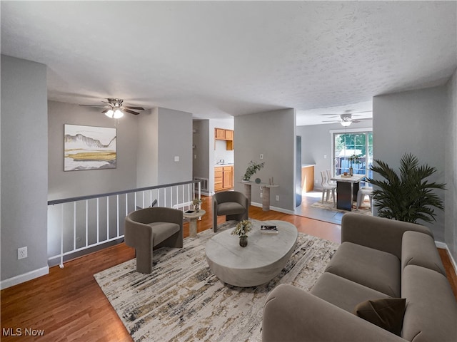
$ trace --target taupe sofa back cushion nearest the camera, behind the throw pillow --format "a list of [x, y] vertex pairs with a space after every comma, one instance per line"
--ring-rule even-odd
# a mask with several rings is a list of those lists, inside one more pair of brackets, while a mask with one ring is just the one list
[[456, 341], [457, 302], [443, 274], [421, 266], [406, 266], [401, 296], [406, 298], [403, 338], [413, 342]]

